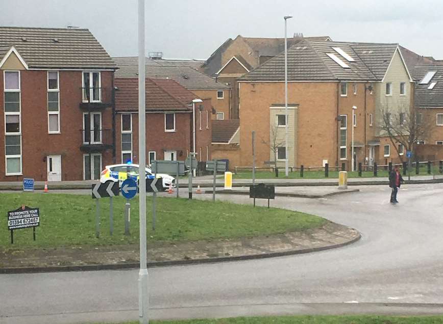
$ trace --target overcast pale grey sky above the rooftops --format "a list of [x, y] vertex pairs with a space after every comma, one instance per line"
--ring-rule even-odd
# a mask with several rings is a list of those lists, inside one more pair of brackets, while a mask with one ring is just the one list
[[[226, 39], [329, 35], [443, 59], [443, 1], [146, 0], [146, 50], [206, 59]], [[136, 0], [0, 0], [0, 25], [88, 28], [111, 56], [137, 55]]]

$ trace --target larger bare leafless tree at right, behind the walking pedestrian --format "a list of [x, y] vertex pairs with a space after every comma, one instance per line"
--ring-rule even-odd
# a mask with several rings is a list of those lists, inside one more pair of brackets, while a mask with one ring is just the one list
[[[429, 118], [416, 108], [404, 109], [397, 114], [392, 114], [387, 109], [382, 111], [382, 114], [381, 135], [389, 137], [400, 160], [403, 162], [404, 157], [400, 155], [398, 144], [402, 144], [406, 151], [415, 152], [417, 143], [424, 141], [429, 135], [431, 126]], [[407, 161], [410, 170], [411, 160], [409, 157]]]

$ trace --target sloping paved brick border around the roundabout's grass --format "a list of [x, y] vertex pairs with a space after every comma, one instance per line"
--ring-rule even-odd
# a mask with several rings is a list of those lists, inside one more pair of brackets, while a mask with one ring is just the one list
[[[328, 222], [304, 232], [185, 243], [153, 243], [149, 266], [246, 260], [338, 248], [360, 238], [355, 229]], [[1, 273], [138, 268], [139, 246], [76, 247], [40, 250], [0, 249]]]

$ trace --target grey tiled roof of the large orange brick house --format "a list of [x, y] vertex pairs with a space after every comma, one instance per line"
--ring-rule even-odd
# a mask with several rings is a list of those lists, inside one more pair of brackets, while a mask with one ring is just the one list
[[[381, 80], [397, 46], [305, 39], [288, 49], [288, 80]], [[341, 48], [354, 62], [348, 62], [332, 47]], [[342, 68], [328, 53], [338, 57], [349, 68]], [[284, 53], [243, 75], [240, 80], [284, 80]]]

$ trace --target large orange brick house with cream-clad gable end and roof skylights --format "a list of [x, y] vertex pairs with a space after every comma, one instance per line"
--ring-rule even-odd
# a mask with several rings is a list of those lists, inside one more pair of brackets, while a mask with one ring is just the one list
[[[238, 82], [241, 166], [252, 165], [252, 130], [257, 134], [257, 166], [275, 158], [284, 166], [284, 54]], [[355, 167], [399, 161], [381, 123], [383, 114], [410, 109], [411, 84], [398, 44], [305, 39], [293, 45], [288, 49], [289, 165], [344, 163], [351, 170], [352, 152]]]

